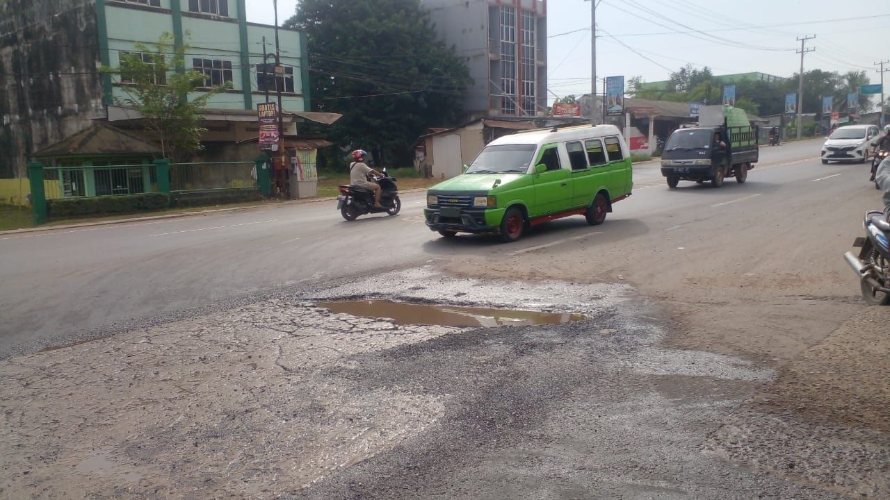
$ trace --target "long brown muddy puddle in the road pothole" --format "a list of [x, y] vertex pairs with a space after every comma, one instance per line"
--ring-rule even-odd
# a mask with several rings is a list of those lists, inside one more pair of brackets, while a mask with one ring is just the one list
[[503, 327], [507, 325], [548, 325], [585, 319], [582, 314], [538, 312], [536, 310], [486, 309], [441, 304], [417, 304], [386, 300], [318, 302], [333, 312], [353, 316], [392, 318], [399, 325], [441, 325], [443, 327]]

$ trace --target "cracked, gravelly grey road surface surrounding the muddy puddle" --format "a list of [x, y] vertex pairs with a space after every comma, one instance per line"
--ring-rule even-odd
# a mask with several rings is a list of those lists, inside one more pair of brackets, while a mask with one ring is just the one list
[[429, 301], [447, 288], [465, 303], [504, 307], [509, 290], [510, 307], [588, 319], [398, 326], [279, 299], [6, 360], [0, 496], [827, 499], [887, 491], [875, 482], [886, 441], [863, 448], [832, 437], [833, 453], [857, 461], [832, 471], [830, 487], [733, 461], [754, 444], [748, 431], [774, 417], [748, 411], [746, 432], [721, 430], [774, 374], [659, 347], [666, 326], [627, 286], [483, 283], [429, 269], [384, 279], [416, 284], [393, 298]]

